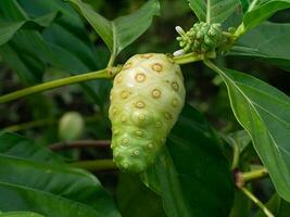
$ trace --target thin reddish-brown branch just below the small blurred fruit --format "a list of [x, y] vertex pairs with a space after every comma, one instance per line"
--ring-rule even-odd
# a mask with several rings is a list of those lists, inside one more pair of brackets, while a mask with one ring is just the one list
[[67, 150], [67, 149], [84, 149], [84, 148], [110, 148], [109, 140], [78, 140], [72, 142], [58, 142], [49, 146], [52, 151]]

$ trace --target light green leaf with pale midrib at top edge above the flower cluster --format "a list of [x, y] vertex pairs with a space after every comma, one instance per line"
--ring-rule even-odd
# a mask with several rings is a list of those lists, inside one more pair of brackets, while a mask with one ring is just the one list
[[222, 23], [239, 5], [238, 0], [187, 0], [200, 22]]

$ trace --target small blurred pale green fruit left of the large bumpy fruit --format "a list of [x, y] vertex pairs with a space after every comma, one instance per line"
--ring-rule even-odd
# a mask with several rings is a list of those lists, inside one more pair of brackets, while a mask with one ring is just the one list
[[63, 141], [78, 139], [85, 128], [84, 118], [77, 112], [65, 113], [59, 123], [59, 136]]

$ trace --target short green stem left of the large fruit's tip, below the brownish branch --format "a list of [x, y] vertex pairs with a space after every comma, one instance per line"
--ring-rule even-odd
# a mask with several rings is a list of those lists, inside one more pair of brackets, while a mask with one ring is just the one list
[[81, 161], [72, 163], [71, 165], [91, 171], [117, 169], [112, 159]]

